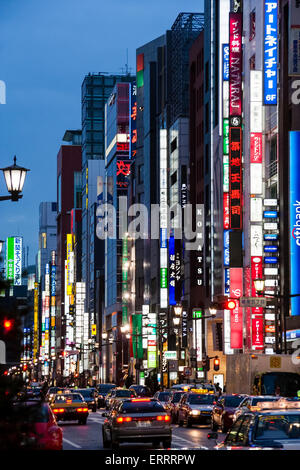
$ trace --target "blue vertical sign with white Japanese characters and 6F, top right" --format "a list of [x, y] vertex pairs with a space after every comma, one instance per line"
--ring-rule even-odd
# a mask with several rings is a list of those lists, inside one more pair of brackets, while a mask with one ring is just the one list
[[277, 104], [278, 0], [265, 0], [264, 104]]

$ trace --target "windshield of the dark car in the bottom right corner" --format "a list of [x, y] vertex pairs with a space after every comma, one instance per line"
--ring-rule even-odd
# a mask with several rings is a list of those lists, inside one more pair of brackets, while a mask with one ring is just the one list
[[300, 439], [300, 414], [262, 415], [258, 418], [254, 439]]

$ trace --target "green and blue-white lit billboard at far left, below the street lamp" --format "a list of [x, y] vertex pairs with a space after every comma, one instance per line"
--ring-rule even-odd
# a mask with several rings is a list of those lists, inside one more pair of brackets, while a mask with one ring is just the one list
[[22, 285], [22, 237], [6, 239], [6, 279], [14, 286]]

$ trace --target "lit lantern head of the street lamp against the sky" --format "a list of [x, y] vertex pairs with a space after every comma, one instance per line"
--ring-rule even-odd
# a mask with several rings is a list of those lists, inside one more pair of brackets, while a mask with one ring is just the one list
[[14, 164], [6, 168], [1, 168], [3, 171], [4, 179], [7, 186], [7, 191], [10, 196], [0, 196], [0, 201], [18, 201], [23, 197], [21, 192], [25, 183], [27, 172], [30, 171], [27, 168], [17, 165], [17, 158], [14, 157]]

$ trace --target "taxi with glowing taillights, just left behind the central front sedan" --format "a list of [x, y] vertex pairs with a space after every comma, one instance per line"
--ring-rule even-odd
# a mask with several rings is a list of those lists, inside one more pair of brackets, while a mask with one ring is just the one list
[[86, 424], [89, 408], [83, 396], [76, 393], [59, 393], [50, 401], [50, 407], [57, 421], [78, 421]]

